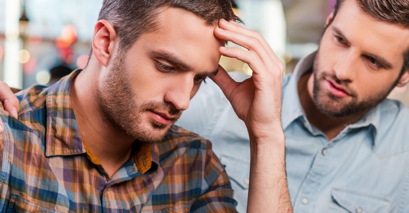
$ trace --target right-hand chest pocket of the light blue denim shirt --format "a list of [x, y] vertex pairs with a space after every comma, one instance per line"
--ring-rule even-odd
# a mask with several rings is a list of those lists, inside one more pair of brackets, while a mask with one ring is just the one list
[[343, 189], [332, 189], [331, 196], [329, 212], [389, 212], [390, 202], [382, 197]]

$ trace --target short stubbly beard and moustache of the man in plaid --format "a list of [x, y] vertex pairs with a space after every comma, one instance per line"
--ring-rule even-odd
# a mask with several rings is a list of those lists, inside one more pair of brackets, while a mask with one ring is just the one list
[[[129, 71], [125, 67], [123, 55], [118, 54], [113, 60], [112, 67], [97, 92], [102, 115], [112, 126], [135, 140], [158, 143], [166, 136], [171, 124], [165, 125], [153, 119], [147, 120], [143, 115], [149, 111], [168, 112], [175, 117], [172, 119], [173, 124], [180, 117], [181, 111], [166, 102], [141, 100], [141, 97], [131, 89]], [[149, 90], [149, 88], [146, 89]]]

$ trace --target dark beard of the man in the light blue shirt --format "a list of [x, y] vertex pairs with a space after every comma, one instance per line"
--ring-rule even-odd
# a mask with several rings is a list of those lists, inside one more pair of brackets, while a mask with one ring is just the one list
[[[341, 118], [369, 111], [370, 109], [378, 105], [381, 101], [383, 101], [385, 98], [387, 98], [389, 93], [395, 88], [395, 86], [399, 82], [400, 76], [398, 77], [398, 79], [396, 79], [395, 83], [391, 85], [390, 88], [372, 93], [371, 95], [365, 96], [362, 98], [362, 100], [358, 101], [357, 92], [350, 89], [349, 81], [342, 81], [338, 79], [335, 75], [333, 76], [327, 75], [325, 74], [326, 72], [324, 70], [320, 70], [319, 52], [317, 52], [317, 55], [315, 57], [312, 73], [314, 77], [313, 101], [315, 103], [316, 108], [321, 113], [329, 117]], [[335, 95], [327, 92], [325, 88], [323, 88], [324, 87], [323, 84], [320, 84], [324, 82], [325, 78], [330, 78], [339, 86], [345, 88], [350, 95], [349, 99], [336, 97]]]

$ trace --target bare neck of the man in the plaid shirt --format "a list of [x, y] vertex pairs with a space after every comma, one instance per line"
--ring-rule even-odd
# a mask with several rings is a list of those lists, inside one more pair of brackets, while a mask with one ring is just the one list
[[96, 92], [99, 73], [98, 69], [84, 69], [74, 80], [70, 96], [83, 143], [111, 177], [128, 161], [134, 139], [105, 119]]

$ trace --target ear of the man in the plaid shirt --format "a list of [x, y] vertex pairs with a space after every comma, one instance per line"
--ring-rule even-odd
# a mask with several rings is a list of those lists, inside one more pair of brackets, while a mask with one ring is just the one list
[[95, 24], [92, 48], [95, 57], [103, 66], [107, 66], [115, 50], [117, 32], [107, 20]]

